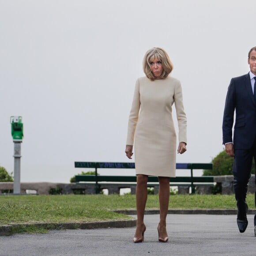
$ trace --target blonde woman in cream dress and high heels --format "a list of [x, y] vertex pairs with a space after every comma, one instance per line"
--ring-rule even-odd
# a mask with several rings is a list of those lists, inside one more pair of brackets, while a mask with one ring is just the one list
[[148, 176], [158, 176], [160, 221], [158, 241], [168, 241], [166, 216], [169, 206], [169, 178], [175, 177], [176, 133], [172, 117], [175, 104], [179, 146], [177, 153], [186, 151], [187, 119], [184, 113], [182, 89], [179, 80], [169, 76], [173, 65], [164, 49], [152, 48], [143, 59], [145, 77], [137, 79], [128, 121], [125, 153], [132, 158], [135, 147], [137, 175], [137, 226], [133, 241], [144, 241], [144, 211], [147, 201]]

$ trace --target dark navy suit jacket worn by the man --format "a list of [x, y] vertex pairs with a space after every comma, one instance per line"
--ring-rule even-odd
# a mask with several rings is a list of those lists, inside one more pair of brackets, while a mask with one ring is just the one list
[[[234, 138], [232, 127], [236, 110]], [[256, 139], [256, 102], [252, 93], [249, 73], [232, 78], [224, 109], [223, 144], [233, 142], [234, 149], [249, 149]]]

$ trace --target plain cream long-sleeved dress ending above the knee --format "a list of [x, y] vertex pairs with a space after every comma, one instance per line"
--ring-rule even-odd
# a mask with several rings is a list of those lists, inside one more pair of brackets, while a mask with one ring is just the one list
[[171, 76], [154, 81], [147, 77], [137, 79], [126, 141], [127, 145], [134, 144], [136, 175], [175, 177], [177, 138], [173, 103], [179, 142], [187, 143], [181, 82]]

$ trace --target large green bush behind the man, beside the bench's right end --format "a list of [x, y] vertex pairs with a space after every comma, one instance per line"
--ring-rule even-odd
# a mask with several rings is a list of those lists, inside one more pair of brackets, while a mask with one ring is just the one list
[[[233, 158], [226, 154], [226, 151], [221, 151], [215, 158], [212, 159], [213, 169], [203, 170], [203, 176], [220, 176], [233, 175]], [[255, 173], [255, 163], [252, 162], [252, 173]]]

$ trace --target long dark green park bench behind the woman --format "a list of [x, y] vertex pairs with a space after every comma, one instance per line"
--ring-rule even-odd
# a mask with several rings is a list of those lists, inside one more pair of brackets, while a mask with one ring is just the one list
[[[78, 184], [83, 183], [93, 183], [95, 184], [95, 193], [98, 194], [101, 188], [105, 185], [116, 185], [119, 187], [125, 187], [128, 185], [136, 185], [136, 176], [103, 176], [98, 175], [98, 169], [108, 168], [108, 169], [134, 169], [135, 163], [125, 163], [125, 162], [75, 162], [75, 168], [94, 168], [95, 175], [75, 175], [75, 182]], [[176, 169], [190, 169], [190, 176], [188, 177], [174, 177], [170, 178], [170, 186], [190, 186], [192, 194], [195, 193], [195, 186], [198, 185], [210, 185], [213, 186], [214, 177], [213, 176], [201, 176], [194, 177], [194, 169], [212, 169], [212, 163], [176, 163]], [[149, 176], [148, 177], [148, 187], [153, 187], [158, 183], [158, 177]]]

